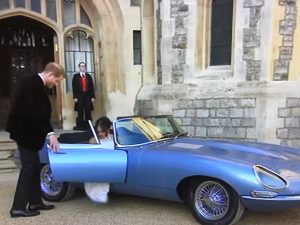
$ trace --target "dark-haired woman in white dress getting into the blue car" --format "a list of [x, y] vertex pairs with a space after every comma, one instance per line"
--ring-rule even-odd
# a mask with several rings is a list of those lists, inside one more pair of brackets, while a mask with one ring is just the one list
[[[96, 134], [100, 145], [105, 149], [114, 149], [113, 135], [111, 134], [112, 122], [106, 116], [100, 117], [95, 123]], [[96, 144], [95, 137], [89, 141], [90, 144]], [[106, 203], [109, 192], [109, 183], [85, 183], [85, 192], [95, 203]]]

